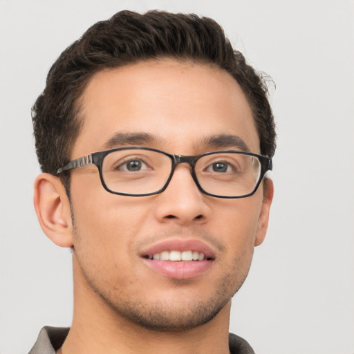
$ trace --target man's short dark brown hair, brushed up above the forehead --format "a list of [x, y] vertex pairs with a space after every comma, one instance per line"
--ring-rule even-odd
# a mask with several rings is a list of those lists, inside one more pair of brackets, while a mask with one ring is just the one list
[[252, 108], [261, 153], [273, 156], [276, 134], [267, 86], [243, 55], [232, 48], [220, 25], [196, 15], [121, 11], [88, 28], [50, 68], [46, 88], [32, 107], [41, 170], [56, 174], [71, 159], [82, 125], [78, 118], [80, 97], [94, 73], [164, 57], [214, 64], [230, 73]]

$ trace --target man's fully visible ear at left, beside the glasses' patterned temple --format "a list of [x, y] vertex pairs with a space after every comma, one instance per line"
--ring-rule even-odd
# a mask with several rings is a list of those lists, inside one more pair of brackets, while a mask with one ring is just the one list
[[34, 204], [39, 224], [48, 238], [61, 247], [71, 247], [71, 205], [62, 181], [51, 174], [37, 176]]

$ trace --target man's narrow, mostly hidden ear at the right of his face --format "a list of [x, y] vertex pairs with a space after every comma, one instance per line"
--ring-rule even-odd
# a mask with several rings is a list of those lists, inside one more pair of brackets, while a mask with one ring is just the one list
[[259, 214], [257, 224], [257, 236], [254, 242], [255, 246], [260, 245], [264, 239], [268, 229], [270, 205], [272, 204], [274, 194], [273, 181], [270, 178], [263, 180], [263, 201], [261, 207], [261, 214]]

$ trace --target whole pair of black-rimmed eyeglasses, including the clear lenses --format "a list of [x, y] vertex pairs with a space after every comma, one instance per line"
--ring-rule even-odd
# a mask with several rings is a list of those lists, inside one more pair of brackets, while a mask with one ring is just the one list
[[257, 191], [272, 160], [243, 151], [211, 151], [196, 156], [171, 155], [149, 147], [120, 147], [72, 160], [57, 174], [96, 165], [108, 192], [121, 196], [151, 196], [163, 192], [180, 163], [192, 167], [192, 178], [208, 196], [244, 198]]

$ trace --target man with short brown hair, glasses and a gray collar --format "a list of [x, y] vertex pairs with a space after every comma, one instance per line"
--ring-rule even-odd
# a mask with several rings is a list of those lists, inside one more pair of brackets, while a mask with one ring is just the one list
[[123, 11], [33, 106], [35, 209], [73, 252], [74, 313], [30, 353], [253, 353], [232, 296], [272, 202], [266, 88], [212, 19]]

